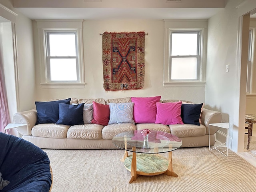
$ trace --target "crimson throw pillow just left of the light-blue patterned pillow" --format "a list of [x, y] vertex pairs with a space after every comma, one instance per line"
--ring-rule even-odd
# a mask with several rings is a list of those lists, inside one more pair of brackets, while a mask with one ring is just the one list
[[109, 122], [109, 116], [109, 105], [104, 105], [93, 101], [92, 123], [106, 126]]

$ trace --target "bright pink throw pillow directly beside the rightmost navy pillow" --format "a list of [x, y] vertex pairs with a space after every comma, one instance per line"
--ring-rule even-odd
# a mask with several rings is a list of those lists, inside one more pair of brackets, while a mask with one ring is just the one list
[[184, 124], [181, 114], [182, 102], [156, 103], [156, 123], [164, 125]]

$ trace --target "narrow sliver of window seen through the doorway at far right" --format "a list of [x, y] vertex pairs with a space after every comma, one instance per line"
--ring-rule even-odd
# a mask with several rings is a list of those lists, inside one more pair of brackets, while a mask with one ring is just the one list
[[248, 47], [248, 62], [247, 62], [247, 85], [246, 93], [251, 93], [251, 73], [252, 73], [252, 37], [253, 29], [249, 30], [249, 47]]

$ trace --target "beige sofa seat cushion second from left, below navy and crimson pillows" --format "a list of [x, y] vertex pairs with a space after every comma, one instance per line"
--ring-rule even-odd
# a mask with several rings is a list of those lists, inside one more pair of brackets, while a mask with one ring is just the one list
[[68, 139], [101, 139], [103, 125], [83, 124], [70, 126], [67, 133]]

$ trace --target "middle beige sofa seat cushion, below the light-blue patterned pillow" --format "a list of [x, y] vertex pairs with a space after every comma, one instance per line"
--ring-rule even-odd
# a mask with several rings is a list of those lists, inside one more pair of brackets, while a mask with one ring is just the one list
[[102, 129], [102, 138], [103, 139], [113, 139], [119, 133], [125, 131], [136, 130], [136, 126], [133, 123], [121, 123], [121, 124], [111, 124], [104, 126]]

